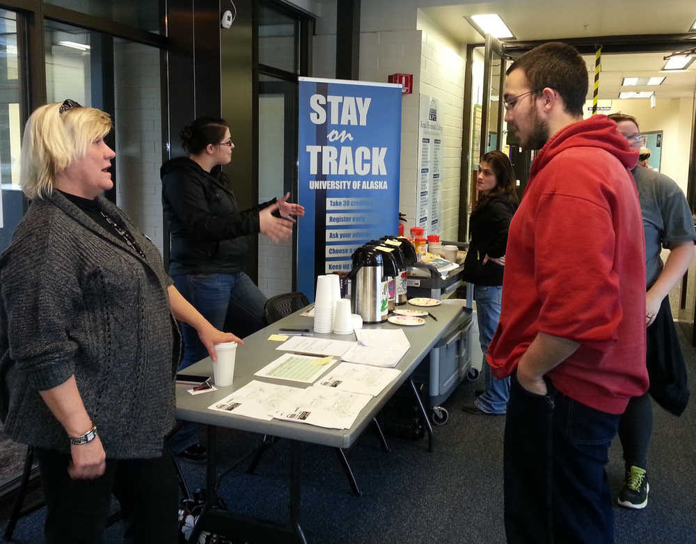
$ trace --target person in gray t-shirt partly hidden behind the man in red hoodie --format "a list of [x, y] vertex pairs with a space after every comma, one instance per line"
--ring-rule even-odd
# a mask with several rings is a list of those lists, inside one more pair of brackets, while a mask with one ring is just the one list
[[[628, 145], [642, 154], [645, 136], [633, 115], [608, 115]], [[683, 191], [673, 179], [638, 163], [633, 170], [643, 216], [646, 258], [646, 364], [650, 388], [633, 397], [619, 421], [619, 439], [624, 449], [625, 481], [619, 492], [621, 506], [642, 509], [648, 504], [648, 448], [652, 434], [653, 397], [665, 410], [681, 415], [689, 400], [686, 362], [674, 328], [670, 291], [689, 269], [694, 256], [693, 216]], [[669, 249], [665, 264], [662, 249]]]

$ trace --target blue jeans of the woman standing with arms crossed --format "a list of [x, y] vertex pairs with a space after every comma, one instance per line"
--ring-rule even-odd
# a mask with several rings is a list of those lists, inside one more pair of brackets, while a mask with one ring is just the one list
[[479, 326], [479, 340], [483, 352], [483, 371], [486, 381], [486, 389], [474, 401], [474, 404], [483, 412], [491, 414], [504, 414], [507, 410], [507, 399], [510, 396], [510, 378], [498, 379], [491, 374], [491, 367], [486, 362], [486, 352], [491, 344], [491, 339], [498, 327], [500, 318], [500, 297], [503, 295], [503, 287], [486, 285], [474, 285], [474, 300], [476, 301], [476, 317]]

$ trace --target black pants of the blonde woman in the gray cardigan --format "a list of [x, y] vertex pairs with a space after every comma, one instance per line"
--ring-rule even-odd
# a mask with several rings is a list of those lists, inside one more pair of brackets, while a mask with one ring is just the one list
[[46, 497], [48, 544], [102, 542], [111, 493], [118, 499], [127, 543], [177, 542], [178, 490], [168, 455], [154, 459], [107, 459], [94, 480], [73, 480], [68, 456], [35, 449]]

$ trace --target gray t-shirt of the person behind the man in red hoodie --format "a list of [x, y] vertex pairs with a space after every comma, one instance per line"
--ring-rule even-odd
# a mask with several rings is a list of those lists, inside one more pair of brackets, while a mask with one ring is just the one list
[[673, 179], [642, 166], [633, 168], [632, 173], [643, 214], [649, 288], [663, 269], [660, 259], [662, 248], [670, 248], [688, 240], [696, 241], [696, 231], [686, 197]]

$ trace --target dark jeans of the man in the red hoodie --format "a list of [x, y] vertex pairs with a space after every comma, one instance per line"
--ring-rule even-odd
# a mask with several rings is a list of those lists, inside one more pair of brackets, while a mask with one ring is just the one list
[[512, 376], [505, 422], [505, 532], [512, 544], [614, 541], [604, 467], [619, 415]]

